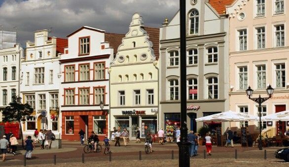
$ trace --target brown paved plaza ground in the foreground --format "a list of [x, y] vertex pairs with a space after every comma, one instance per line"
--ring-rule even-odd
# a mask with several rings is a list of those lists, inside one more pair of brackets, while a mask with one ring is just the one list
[[[206, 156], [204, 159], [205, 146], [199, 147], [198, 156], [191, 158], [192, 167], [249, 167], [261, 165], [262, 167], [285, 167], [289, 166], [282, 160], [275, 159], [274, 152], [280, 147], [264, 148], [267, 152], [267, 159], [264, 159], [264, 150], [259, 151], [257, 147], [234, 148], [213, 146], [212, 156]], [[237, 159], [235, 159], [235, 150], [237, 150]], [[56, 166], [79, 166], [79, 167], [157, 167], [157, 166], [178, 166], [178, 146], [176, 143], [160, 145], [153, 144], [153, 153], [146, 155], [144, 152], [144, 143], [130, 142], [128, 146], [111, 146], [111, 162], [109, 155], [101, 153], [84, 154], [84, 164], [82, 163], [83, 146], [78, 142], [63, 142], [62, 149], [40, 150], [38, 147], [33, 152], [32, 160], [26, 161], [28, 167], [51, 167], [54, 166], [53, 157], [56, 155]], [[140, 158], [140, 152], [142, 160]], [[172, 159], [172, 151], [174, 156]], [[6, 162], [0, 162], [2, 166], [23, 167], [24, 151], [18, 151], [16, 156], [7, 157]]]

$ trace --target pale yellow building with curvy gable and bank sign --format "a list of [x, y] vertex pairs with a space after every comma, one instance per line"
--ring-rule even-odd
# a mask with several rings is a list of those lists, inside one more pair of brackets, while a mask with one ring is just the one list
[[[110, 130], [127, 128], [131, 139], [140, 127], [157, 132], [158, 119], [158, 29], [144, 28], [142, 16], [135, 13], [115, 59], [110, 66]], [[150, 36], [149, 36], [150, 35]], [[154, 51], [154, 49], [155, 51]]]

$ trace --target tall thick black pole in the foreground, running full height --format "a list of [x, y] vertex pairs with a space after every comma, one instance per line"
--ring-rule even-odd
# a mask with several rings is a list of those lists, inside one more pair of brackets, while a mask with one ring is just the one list
[[185, 1], [180, 0], [180, 68], [181, 68], [181, 141], [179, 144], [179, 167], [190, 166], [189, 145], [186, 123], [186, 14]]

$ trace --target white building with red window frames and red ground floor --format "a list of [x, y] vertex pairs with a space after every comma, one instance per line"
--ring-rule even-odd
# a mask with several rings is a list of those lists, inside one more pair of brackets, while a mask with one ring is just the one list
[[[60, 60], [64, 140], [79, 140], [81, 129], [86, 137], [91, 131], [95, 131], [100, 139], [108, 135], [108, 68], [113, 59], [113, 48], [106, 42], [106, 36], [104, 30], [88, 26], [68, 35], [69, 45]], [[113, 34], [108, 37], [114, 39]]]

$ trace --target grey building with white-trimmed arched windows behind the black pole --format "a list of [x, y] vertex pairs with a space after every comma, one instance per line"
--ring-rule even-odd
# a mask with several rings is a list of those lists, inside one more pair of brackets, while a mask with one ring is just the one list
[[[186, 0], [187, 54], [180, 55], [180, 12], [160, 29], [159, 127], [180, 126], [180, 89], [187, 87], [187, 125], [197, 131], [220, 123], [195, 119], [229, 109], [228, 18], [225, 5], [233, 0]], [[187, 83], [180, 83], [180, 56], [187, 57]], [[224, 128], [224, 124], [222, 125]]]

